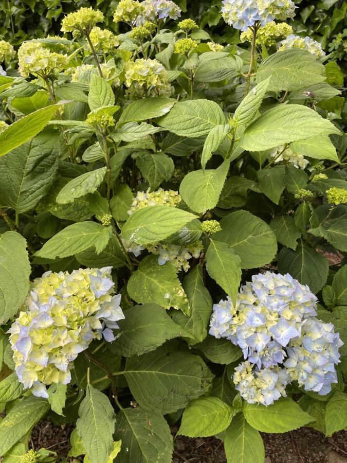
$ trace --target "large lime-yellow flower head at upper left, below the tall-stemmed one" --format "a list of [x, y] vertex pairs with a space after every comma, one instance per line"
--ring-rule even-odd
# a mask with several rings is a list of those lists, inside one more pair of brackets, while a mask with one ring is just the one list
[[67, 55], [62, 55], [39, 42], [24, 42], [18, 50], [19, 72], [22, 76], [33, 74], [52, 78], [68, 66]]

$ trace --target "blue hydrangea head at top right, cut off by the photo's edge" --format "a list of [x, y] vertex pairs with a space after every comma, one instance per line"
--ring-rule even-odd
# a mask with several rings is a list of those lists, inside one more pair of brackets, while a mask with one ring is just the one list
[[260, 22], [285, 21], [294, 17], [295, 8], [291, 0], [223, 0], [222, 16], [226, 23], [235, 29], [247, 30]]

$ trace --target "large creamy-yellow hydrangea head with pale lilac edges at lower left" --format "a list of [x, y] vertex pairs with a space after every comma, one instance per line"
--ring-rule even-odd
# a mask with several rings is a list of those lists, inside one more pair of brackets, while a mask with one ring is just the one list
[[31, 283], [24, 309], [9, 329], [15, 372], [34, 396], [48, 397], [46, 385], [68, 384], [71, 362], [124, 318], [121, 295], [113, 295], [112, 267], [46, 272]]

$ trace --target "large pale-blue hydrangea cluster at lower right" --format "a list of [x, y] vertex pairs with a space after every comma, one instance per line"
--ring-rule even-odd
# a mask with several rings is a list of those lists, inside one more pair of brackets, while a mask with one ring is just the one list
[[241, 347], [234, 383], [249, 403], [273, 403], [297, 380], [325, 395], [337, 383], [342, 342], [334, 325], [318, 320], [316, 296], [289, 274], [254, 275], [231, 299], [213, 306], [210, 334]]

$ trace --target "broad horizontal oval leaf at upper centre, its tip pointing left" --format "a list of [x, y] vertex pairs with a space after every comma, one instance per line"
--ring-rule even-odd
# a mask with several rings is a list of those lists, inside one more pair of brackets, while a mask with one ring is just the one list
[[220, 105], [214, 101], [187, 100], [175, 104], [169, 114], [156, 122], [176, 135], [199, 137], [207, 135], [215, 126], [225, 124], [225, 117]]

